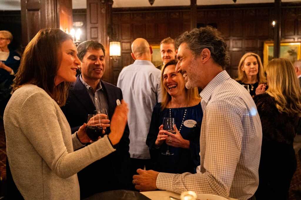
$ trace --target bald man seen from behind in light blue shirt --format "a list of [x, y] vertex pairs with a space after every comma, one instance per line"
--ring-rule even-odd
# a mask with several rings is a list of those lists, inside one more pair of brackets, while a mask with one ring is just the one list
[[144, 169], [144, 166], [148, 169], [150, 165], [151, 156], [145, 141], [153, 108], [162, 99], [161, 71], [151, 63], [152, 53], [153, 50], [145, 39], [135, 39], [131, 53], [135, 62], [123, 68], [117, 82], [117, 87], [122, 90], [123, 99], [129, 104], [129, 152], [132, 175], [136, 174], [137, 169]]

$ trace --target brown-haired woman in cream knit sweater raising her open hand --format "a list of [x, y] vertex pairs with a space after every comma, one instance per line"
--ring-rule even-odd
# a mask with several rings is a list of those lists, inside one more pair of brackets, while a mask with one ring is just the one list
[[111, 133], [79, 149], [90, 141], [86, 125], [71, 134], [60, 109], [67, 82], [76, 81], [76, 54], [72, 37], [60, 29], [40, 30], [24, 51], [4, 113], [11, 174], [24, 199], [78, 200], [76, 173], [113, 152], [122, 137], [128, 112], [123, 101], [111, 119]]

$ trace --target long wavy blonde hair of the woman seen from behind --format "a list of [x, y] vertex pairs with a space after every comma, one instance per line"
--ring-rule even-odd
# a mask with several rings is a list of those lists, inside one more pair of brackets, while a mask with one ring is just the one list
[[285, 58], [271, 60], [267, 67], [267, 94], [275, 98], [280, 113], [301, 115], [301, 88], [293, 64]]

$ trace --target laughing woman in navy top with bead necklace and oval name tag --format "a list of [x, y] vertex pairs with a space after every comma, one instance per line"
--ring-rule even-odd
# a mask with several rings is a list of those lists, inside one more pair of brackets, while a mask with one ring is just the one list
[[[200, 125], [203, 111], [197, 88], [186, 89], [181, 73], [175, 71], [176, 61], [162, 68], [162, 103], [153, 110], [146, 143], [150, 148], [151, 169], [166, 173], [196, 173], [200, 165]], [[175, 119], [176, 134], [163, 131], [163, 118]], [[196, 125], [197, 124], [197, 125]], [[171, 137], [169, 137], [171, 136]], [[167, 145], [174, 155], [163, 155]]]

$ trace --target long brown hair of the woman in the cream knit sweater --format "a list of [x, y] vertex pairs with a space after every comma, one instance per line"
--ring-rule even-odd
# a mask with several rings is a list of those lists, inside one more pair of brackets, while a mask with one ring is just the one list
[[66, 103], [70, 83], [55, 86], [54, 79], [61, 64], [61, 44], [73, 39], [60, 29], [42, 29], [26, 46], [13, 90], [23, 85], [36, 85], [49, 94], [59, 106]]

